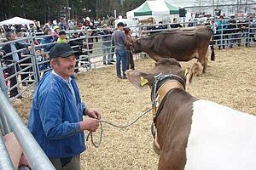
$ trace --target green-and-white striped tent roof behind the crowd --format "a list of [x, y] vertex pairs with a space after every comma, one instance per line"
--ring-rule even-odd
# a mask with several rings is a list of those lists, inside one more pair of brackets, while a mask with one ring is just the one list
[[178, 8], [172, 6], [171, 3], [167, 3], [165, 0], [158, 1], [146, 1], [138, 8], [135, 8], [129, 12], [128, 15], [146, 16], [146, 15], [168, 15], [168, 14], [178, 14]]

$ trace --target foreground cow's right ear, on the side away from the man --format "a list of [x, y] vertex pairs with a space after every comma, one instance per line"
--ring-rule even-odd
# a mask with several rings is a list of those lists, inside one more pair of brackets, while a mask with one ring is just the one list
[[[189, 69], [189, 72], [187, 73], [187, 75], [185, 75], [186, 77], [186, 83], [187, 85], [190, 85], [196, 76], [199, 76], [202, 72], [202, 65], [200, 62], [195, 62]], [[184, 71], [185, 74], [185, 71]]]

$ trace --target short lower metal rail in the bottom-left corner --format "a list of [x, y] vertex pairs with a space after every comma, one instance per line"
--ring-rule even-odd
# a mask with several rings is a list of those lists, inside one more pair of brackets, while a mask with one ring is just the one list
[[15, 167], [9, 157], [8, 151], [3, 142], [2, 134], [0, 133], [0, 169], [15, 170]]

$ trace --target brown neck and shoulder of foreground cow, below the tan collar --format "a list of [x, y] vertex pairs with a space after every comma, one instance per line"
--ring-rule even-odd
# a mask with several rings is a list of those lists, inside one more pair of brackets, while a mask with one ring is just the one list
[[160, 105], [161, 113], [155, 123], [160, 157], [171, 158], [168, 160], [170, 165], [166, 169], [184, 169], [186, 146], [192, 123], [192, 105], [195, 100], [183, 89], [175, 88], [172, 93], [166, 94], [164, 103]]

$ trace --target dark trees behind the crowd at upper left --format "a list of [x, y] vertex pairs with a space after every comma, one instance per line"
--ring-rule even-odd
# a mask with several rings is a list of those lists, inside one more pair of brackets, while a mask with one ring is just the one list
[[[121, 5], [121, 0], [1, 0], [0, 20], [20, 16], [31, 20], [40, 20], [42, 23], [47, 20], [59, 20], [61, 14], [66, 14], [67, 18], [79, 19], [89, 16], [90, 18], [107, 18], [113, 16], [113, 11], [117, 11], [117, 16], [125, 16], [126, 12], [137, 8], [145, 0], [125, 0]], [[67, 7], [70, 10], [64, 9]]]

